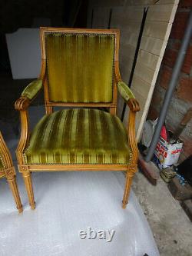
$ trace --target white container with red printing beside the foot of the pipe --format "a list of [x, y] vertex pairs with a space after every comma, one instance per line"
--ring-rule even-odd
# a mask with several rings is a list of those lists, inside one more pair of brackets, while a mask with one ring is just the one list
[[176, 142], [170, 144], [160, 136], [154, 155], [157, 158], [157, 165], [160, 169], [170, 167], [177, 164], [182, 150], [183, 143]]

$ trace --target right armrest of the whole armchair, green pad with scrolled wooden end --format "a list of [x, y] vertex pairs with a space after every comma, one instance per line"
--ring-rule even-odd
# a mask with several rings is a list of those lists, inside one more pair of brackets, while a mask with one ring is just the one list
[[130, 88], [124, 83], [124, 81], [118, 81], [118, 91], [124, 101], [127, 103], [131, 111], [137, 112], [140, 111], [139, 104], [134, 98], [134, 94]]

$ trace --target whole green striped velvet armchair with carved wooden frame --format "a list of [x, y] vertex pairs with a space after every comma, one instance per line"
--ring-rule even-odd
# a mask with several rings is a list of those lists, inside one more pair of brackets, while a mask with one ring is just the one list
[[[15, 102], [22, 121], [16, 154], [29, 204], [35, 208], [31, 171], [126, 171], [125, 208], [137, 171], [139, 105], [121, 81], [119, 31], [40, 28], [40, 35], [41, 74]], [[41, 88], [46, 115], [30, 133], [28, 106]], [[116, 115], [118, 91], [130, 108], [127, 129]]]

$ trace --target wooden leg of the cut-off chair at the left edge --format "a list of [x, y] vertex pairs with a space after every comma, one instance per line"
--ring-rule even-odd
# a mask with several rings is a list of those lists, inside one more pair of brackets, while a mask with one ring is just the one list
[[15, 203], [17, 205], [18, 212], [21, 213], [23, 211], [23, 208], [22, 208], [21, 198], [18, 194], [18, 186], [16, 183], [15, 175], [13, 175], [11, 177], [7, 177], [7, 181], [8, 181], [8, 185], [12, 191], [13, 197], [15, 199]]

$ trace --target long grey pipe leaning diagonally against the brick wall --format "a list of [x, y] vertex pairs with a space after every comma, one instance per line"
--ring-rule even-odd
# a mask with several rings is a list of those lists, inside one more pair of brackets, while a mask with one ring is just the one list
[[164, 125], [164, 120], [166, 118], [167, 110], [170, 105], [170, 100], [172, 98], [174, 89], [177, 85], [177, 80], [180, 75], [180, 68], [182, 67], [182, 65], [184, 63], [184, 57], [187, 52], [187, 47], [189, 45], [191, 35], [192, 35], [192, 10], [190, 10], [190, 16], [189, 16], [189, 19], [187, 22], [187, 28], [184, 32], [184, 38], [182, 40], [182, 44], [180, 46], [180, 51], [177, 55], [177, 60], [175, 62], [173, 73], [170, 78], [169, 86], [167, 88], [166, 95], [164, 97], [163, 107], [161, 108], [161, 113], [160, 113], [160, 116], [157, 121], [157, 125], [156, 125], [154, 135], [153, 135], [153, 138], [151, 141], [151, 145], [148, 148], [146, 157], [144, 158], [144, 160], [147, 162], [150, 161], [154, 155], [154, 150], [157, 146], [157, 142], [158, 142], [160, 134], [161, 134], [161, 128]]

